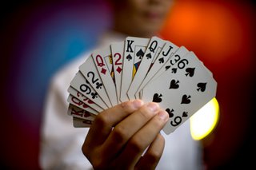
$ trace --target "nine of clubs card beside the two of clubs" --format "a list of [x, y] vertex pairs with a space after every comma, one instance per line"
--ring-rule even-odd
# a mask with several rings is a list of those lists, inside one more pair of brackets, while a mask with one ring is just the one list
[[102, 101], [102, 98], [98, 96], [98, 93], [90, 85], [89, 81], [86, 80], [86, 77], [83, 77], [80, 71], [76, 73], [70, 85], [78, 90], [78, 92], [82, 93], [82, 95], [94, 101], [95, 104], [100, 105], [102, 109], [108, 109], [104, 101]]

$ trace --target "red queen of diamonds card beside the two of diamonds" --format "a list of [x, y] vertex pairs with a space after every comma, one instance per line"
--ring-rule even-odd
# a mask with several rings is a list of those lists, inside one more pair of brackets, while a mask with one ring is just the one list
[[107, 45], [102, 49], [94, 50], [92, 57], [96, 68], [98, 69], [98, 74], [102, 78], [102, 83], [104, 84], [111, 105], [118, 105], [118, 97], [114, 85], [114, 72], [110, 45]]

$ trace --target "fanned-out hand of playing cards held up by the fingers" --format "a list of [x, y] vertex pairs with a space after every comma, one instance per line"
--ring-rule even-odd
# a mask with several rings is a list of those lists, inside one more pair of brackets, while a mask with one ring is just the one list
[[157, 102], [169, 113], [163, 128], [174, 132], [216, 95], [217, 82], [184, 46], [158, 37], [127, 37], [91, 53], [70, 82], [68, 114], [74, 127], [90, 127], [94, 117], [121, 102]]

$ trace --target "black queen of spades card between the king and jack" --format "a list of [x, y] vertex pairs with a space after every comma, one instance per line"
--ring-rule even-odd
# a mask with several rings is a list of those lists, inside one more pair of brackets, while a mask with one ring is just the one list
[[146, 73], [150, 69], [150, 65], [153, 64], [157, 54], [160, 52], [162, 46], [165, 45], [165, 43], [166, 41], [158, 37], [153, 37], [150, 39], [149, 45], [146, 47], [144, 57], [142, 57], [142, 61], [134, 75], [134, 79], [130, 84], [130, 88], [127, 91], [127, 95], [130, 100], [138, 98], [135, 97], [135, 93], [139, 85], [141, 85], [144, 77], [146, 77]]

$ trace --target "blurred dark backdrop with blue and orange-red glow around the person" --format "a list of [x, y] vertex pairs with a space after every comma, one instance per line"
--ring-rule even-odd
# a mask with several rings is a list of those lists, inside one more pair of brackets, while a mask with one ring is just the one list
[[[202, 142], [207, 169], [254, 167], [255, 3], [177, 0], [162, 38], [194, 51], [218, 82], [220, 119]], [[94, 47], [111, 23], [104, 0], [1, 5], [3, 169], [39, 169], [43, 102], [54, 72]]]

